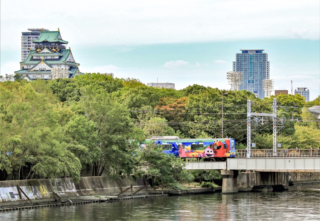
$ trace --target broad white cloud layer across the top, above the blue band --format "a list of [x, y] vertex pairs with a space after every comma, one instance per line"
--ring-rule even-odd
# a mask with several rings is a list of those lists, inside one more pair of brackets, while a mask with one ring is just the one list
[[[32, 17], [20, 15], [25, 13], [25, 9], [31, 4], [50, 8], [50, 1], [1, 1], [1, 48], [19, 47], [21, 31], [41, 27], [49, 30], [57, 30], [59, 27], [62, 38], [72, 42], [72, 46], [249, 38], [319, 39], [319, 3], [299, 0], [203, 0], [183, 1], [181, 4], [180, 1], [166, 0], [92, 0], [88, 4], [87, 1], [69, 0], [64, 1], [64, 7], [60, 8], [58, 14], [48, 14], [46, 20], [36, 21]], [[77, 13], [70, 13], [70, 8]], [[250, 12], [250, 16], [242, 16], [239, 12]], [[10, 30], [10, 35], [7, 34], [7, 30]]]

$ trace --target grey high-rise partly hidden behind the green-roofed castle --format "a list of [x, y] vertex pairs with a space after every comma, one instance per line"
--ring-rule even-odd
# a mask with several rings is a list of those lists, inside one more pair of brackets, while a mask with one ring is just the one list
[[35, 49], [36, 43], [32, 40], [38, 39], [42, 31], [49, 31], [47, 29], [28, 29], [28, 32], [22, 32], [21, 36], [21, 61], [26, 60], [30, 48]]

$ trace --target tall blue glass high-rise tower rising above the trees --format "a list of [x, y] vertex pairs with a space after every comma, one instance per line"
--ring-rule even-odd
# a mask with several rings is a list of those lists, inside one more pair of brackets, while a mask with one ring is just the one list
[[243, 72], [242, 84], [239, 90], [249, 90], [263, 99], [262, 80], [270, 79], [270, 63], [268, 54], [263, 49], [240, 49], [241, 53], [236, 54], [236, 61], [233, 62], [234, 72]]

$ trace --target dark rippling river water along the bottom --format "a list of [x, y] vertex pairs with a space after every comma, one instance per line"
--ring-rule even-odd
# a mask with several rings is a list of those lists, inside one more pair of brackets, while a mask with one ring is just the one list
[[155, 197], [0, 213], [0, 220], [320, 220], [320, 184], [284, 192]]

